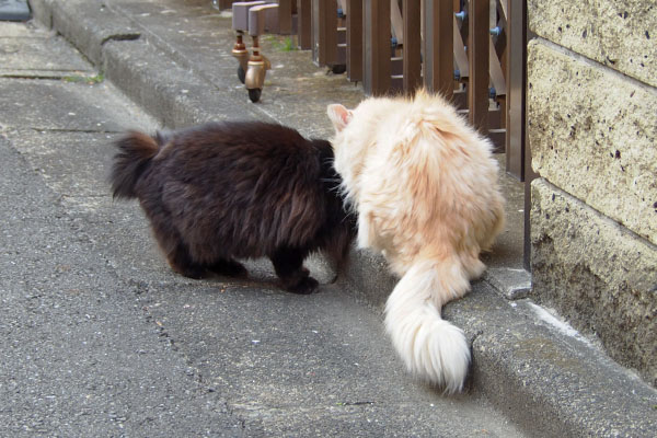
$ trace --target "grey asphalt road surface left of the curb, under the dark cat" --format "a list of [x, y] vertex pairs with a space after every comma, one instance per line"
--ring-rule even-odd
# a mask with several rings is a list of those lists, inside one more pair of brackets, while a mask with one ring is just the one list
[[414, 382], [319, 264], [312, 296], [266, 261], [172, 273], [106, 183], [111, 141], [157, 127], [65, 41], [0, 22], [0, 436], [521, 436]]

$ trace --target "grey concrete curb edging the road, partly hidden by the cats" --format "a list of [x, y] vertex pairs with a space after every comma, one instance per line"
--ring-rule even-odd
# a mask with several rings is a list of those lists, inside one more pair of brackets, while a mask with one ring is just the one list
[[[100, 3], [31, 0], [35, 18], [78, 47], [108, 80], [169, 127], [217, 119], [216, 89], [120, 11]], [[126, 41], [129, 39], [129, 41]], [[231, 117], [272, 119], [230, 95]], [[445, 318], [472, 341], [471, 391], [491, 400], [532, 436], [649, 437], [657, 391], [611, 361], [529, 300], [527, 274], [487, 273]], [[508, 275], [508, 279], [505, 279]], [[380, 311], [396, 279], [384, 261], [354, 250], [345, 287]], [[499, 292], [495, 292], [493, 285]]]

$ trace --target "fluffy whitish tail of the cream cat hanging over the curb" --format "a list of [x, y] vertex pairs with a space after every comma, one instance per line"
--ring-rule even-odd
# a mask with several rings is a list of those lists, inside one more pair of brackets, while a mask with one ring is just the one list
[[440, 309], [469, 289], [458, 260], [422, 262], [402, 277], [385, 304], [385, 328], [408, 370], [448, 393], [463, 388], [470, 347], [463, 331], [440, 318]]

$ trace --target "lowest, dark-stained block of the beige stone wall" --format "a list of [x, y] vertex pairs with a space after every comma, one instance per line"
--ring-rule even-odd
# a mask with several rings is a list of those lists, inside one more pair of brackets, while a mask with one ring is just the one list
[[543, 178], [531, 196], [533, 297], [657, 384], [657, 249]]

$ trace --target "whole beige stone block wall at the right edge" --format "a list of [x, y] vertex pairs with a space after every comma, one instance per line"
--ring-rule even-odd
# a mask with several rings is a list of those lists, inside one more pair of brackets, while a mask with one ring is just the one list
[[657, 4], [528, 1], [533, 296], [657, 385]]

